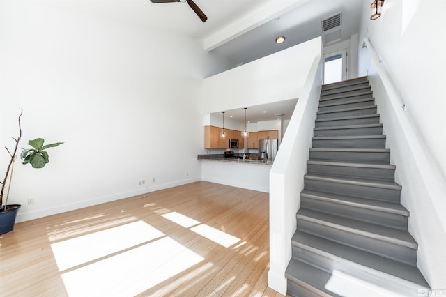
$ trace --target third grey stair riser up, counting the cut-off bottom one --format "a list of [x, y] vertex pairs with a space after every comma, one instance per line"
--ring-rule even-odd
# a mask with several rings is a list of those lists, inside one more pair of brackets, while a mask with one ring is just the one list
[[389, 243], [379, 238], [370, 238], [362, 234], [355, 234], [350, 231], [328, 227], [300, 218], [298, 218], [298, 230], [406, 264], [416, 265], [417, 263], [416, 250], [397, 243]]

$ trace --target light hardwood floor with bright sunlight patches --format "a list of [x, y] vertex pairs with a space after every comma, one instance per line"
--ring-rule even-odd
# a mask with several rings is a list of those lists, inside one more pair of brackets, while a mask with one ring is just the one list
[[268, 235], [267, 193], [181, 185], [15, 224], [0, 296], [278, 297]]

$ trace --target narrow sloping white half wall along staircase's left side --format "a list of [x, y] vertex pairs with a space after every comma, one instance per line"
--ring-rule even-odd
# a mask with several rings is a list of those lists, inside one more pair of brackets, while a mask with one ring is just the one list
[[291, 259], [291, 238], [296, 229], [295, 214], [312, 145], [314, 121], [322, 82], [322, 43], [307, 75], [284, 139], [270, 172], [270, 270], [268, 287], [286, 294], [285, 271]]

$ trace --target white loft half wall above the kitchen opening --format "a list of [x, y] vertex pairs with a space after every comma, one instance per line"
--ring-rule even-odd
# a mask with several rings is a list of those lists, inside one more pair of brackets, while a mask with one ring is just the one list
[[298, 98], [319, 38], [204, 79], [205, 113]]

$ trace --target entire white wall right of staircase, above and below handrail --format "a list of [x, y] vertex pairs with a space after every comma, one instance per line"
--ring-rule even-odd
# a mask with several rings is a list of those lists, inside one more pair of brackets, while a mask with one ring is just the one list
[[[359, 38], [360, 45], [369, 38], [390, 75], [386, 84], [370, 49], [360, 48], [359, 75], [369, 75], [395, 180], [403, 186], [401, 203], [410, 211], [409, 231], [419, 244], [417, 265], [433, 289], [446, 287], [445, 8], [444, 1], [386, 1], [378, 20], [363, 17]], [[363, 13], [370, 14], [368, 1]]]

